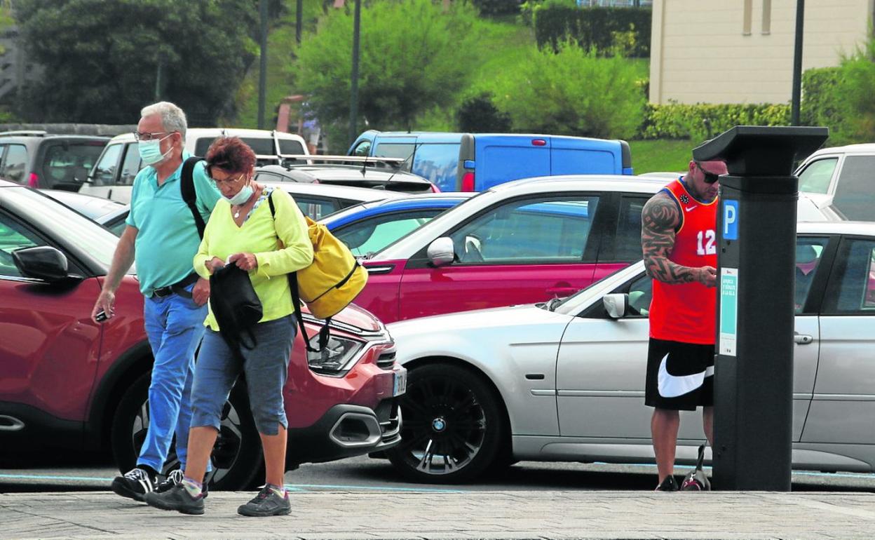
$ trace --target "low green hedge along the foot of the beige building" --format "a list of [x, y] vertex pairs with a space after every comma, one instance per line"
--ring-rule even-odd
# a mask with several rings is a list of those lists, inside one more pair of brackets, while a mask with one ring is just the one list
[[648, 103], [639, 135], [645, 139], [691, 138], [702, 141], [733, 126], [786, 126], [790, 124], [788, 104], [682, 105]]

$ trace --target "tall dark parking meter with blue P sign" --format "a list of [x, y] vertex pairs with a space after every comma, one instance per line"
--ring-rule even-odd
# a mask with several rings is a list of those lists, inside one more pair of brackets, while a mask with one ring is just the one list
[[693, 150], [722, 159], [718, 207], [715, 489], [789, 491], [798, 179], [827, 128], [736, 126]]

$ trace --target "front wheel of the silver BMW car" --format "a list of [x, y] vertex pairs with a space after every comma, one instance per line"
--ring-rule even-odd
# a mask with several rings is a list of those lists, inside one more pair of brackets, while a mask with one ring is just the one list
[[481, 376], [451, 364], [413, 368], [408, 376], [401, 443], [386, 452], [392, 465], [416, 482], [477, 478], [504, 440], [500, 397]]

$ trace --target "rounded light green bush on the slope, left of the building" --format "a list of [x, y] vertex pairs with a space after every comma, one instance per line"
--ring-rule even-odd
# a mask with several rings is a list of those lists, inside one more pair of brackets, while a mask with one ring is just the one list
[[644, 116], [638, 70], [619, 56], [599, 58], [573, 43], [534, 47], [496, 84], [494, 102], [514, 130], [582, 137], [634, 137]]

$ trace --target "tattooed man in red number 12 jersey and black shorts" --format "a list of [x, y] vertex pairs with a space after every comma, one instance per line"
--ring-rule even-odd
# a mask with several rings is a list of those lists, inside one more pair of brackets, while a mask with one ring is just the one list
[[713, 441], [714, 335], [717, 311], [717, 194], [722, 161], [690, 161], [682, 178], [656, 193], [641, 212], [644, 266], [653, 277], [645, 402], [658, 491], [676, 491], [679, 410], [703, 407]]

